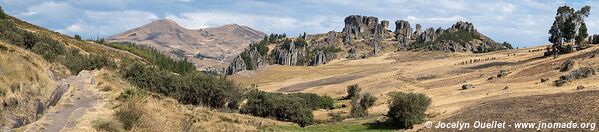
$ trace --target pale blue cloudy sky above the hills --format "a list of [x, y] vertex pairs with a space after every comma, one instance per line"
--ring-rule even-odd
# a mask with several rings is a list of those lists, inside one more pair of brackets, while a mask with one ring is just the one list
[[[599, 1], [590, 0], [1, 0], [7, 14], [67, 35], [109, 37], [157, 19], [189, 29], [240, 24], [297, 36], [341, 31], [349, 15], [408, 20], [414, 28], [447, 28], [457, 21], [498, 42], [548, 43], [556, 9], [591, 6], [589, 34], [599, 34]], [[596, 8], [596, 9], [595, 9]]]

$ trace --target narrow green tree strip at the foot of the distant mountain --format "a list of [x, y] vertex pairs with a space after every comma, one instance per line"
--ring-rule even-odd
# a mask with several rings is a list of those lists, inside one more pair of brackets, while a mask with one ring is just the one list
[[172, 71], [178, 74], [186, 74], [195, 71], [193, 63], [184, 60], [173, 59], [162, 54], [155, 48], [141, 46], [132, 43], [107, 43], [107, 46], [131, 52], [150, 63], [158, 66], [162, 70]]

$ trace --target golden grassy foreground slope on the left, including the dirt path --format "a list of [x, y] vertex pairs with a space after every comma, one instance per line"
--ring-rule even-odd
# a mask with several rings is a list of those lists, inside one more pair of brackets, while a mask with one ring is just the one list
[[[142, 57], [77, 40], [1, 11], [0, 25], [0, 131], [122, 131], [125, 121], [117, 117], [118, 110], [130, 107], [143, 112], [131, 131], [243, 131], [289, 124], [182, 105], [120, 76], [118, 67], [127, 64], [123, 62], [151, 63]], [[111, 61], [116, 64], [100, 63]], [[140, 98], [122, 99], [132, 90]], [[82, 101], [86, 106], [80, 109], [77, 102], [87, 100], [83, 96], [97, 97], [97, 102]]]

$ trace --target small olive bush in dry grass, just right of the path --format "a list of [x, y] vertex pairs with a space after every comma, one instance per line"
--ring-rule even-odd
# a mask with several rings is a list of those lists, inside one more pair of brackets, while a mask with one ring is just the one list
[[116, 111], [115, 116], [123, 123], [125, 130], [131, 130], [144, 114], [142, 108], [134, 101], [128, 101]]

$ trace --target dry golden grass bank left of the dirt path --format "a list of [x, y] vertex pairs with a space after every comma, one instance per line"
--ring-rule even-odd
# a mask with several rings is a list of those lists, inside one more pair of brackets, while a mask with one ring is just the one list
[[[0, 112], [35, 121], [36, 101], [46, 101], [56, 87], [55, 79], [64, 78], [68, 70], [46, 62], [40, 56], [4, 42], [0, 46]], [[45, 102], [44, 102], [45, 103]], [[12, 126], [0, 118], [2, 126]]]

